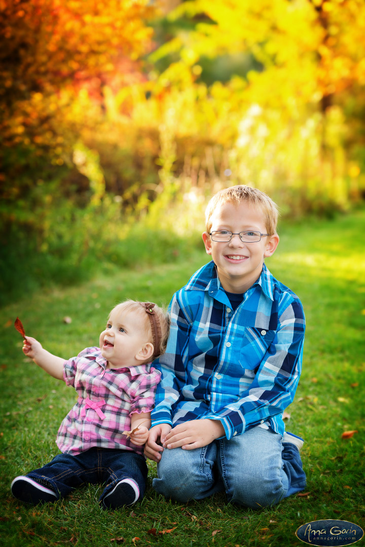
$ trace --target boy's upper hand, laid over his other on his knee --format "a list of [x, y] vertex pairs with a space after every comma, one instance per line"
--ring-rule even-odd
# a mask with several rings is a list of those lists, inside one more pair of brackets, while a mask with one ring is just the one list
[[164, 448], [173, 449], [181, 446], [183, 450], [193, 450], [212, 443], [225, 435], [224, 427], [219, 420], [190, 420], [171, 429], [166, 435]]

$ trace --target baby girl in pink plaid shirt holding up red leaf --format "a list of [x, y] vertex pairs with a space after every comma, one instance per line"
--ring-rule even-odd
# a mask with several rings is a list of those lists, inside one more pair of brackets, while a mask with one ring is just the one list
[[[105, 482], [102, 508], [116, 509], [141, 500], [147, 465], [143, 445], [160, 373], [150, 363], [164, 352], [169, 324], [150, 302], [122, 302], [111, 311], [100, 347], [66, 360], [25, 337], [24, 353], [48, 374], [78, 393], [61, 423], [53, 460], [11, 483], [26, 503], [55, 502], [85, 483]], [[127, 435], [128, 433], [128, 435]]]

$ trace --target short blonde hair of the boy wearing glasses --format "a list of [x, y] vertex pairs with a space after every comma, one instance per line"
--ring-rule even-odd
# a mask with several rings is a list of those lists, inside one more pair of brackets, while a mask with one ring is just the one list
[[270, 236], [276, 234], [277, 218], [279, 217], [276, 203], [263, 191], [241, 184], [224, 188], [211, 198], [205, 210], [205, 226], [208, 234], [212, 228], [212, 214], [219, 205], [223, 203], [239, 205], [242, 201], [248, 203], [252, 208], [262, 211], [266, 232]]

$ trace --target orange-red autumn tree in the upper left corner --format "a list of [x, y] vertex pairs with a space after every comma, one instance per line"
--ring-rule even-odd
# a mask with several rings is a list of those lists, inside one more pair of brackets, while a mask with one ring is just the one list
[[[0, 0], [3, 197], [70, 162], [103, 84], [125, 85], [149, 49], [147, 0]], [[86, 108], [86, 111], [85, 111]], [[92, 109], [92, 106], [91, 106]], [[48, 173], [48, 174], [47, 174]]]

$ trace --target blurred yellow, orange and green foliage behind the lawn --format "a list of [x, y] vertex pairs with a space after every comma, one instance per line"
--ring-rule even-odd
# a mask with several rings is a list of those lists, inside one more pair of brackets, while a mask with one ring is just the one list
[[0, 0], [0, 298], [200, 245], [207, 197], [365, 197], [363, 0]]

